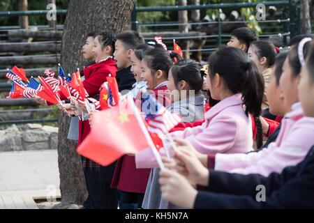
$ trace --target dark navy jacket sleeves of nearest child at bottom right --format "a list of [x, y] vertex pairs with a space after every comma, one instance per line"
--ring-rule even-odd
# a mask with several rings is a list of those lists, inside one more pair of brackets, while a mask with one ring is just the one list
[[[258, 185], [264, 186], [264, 201]], [[281, 174], [209, 172], [209, 186], [197, 193], [194, 208], [314, 208], [314, 146], [305, 159]]]

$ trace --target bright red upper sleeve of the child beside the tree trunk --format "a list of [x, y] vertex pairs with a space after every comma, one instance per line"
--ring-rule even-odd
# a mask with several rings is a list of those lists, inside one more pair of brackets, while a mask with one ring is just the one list
[[94, 98], [94, 96], [99, 93], [101, 84], [107, 81], [106, 77], [109, 74], [112, 74], [112, 72], [107, 68], [98, 69], [93, 72], [89, 79], [84, 79], [82, 83], [84, 85], [84, 89], [86, 89], [87, 93], [89, 93], [89, 97]]

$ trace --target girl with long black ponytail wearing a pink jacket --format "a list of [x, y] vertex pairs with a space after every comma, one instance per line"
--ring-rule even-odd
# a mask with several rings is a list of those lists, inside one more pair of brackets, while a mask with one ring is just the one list
[[[197, 151], [207, 155], [247, 153], [253, 146], [249, 114], [259, 116], [261, 111], [262, 76], [247, 54], [234, 47], [211, 54], [209, 64], [209, 91], [211, 97], [220, 102], [205, 114], [202, 125], [171, 135], [186, 139]], [[163, 155], [163, 150], [160, 153]], [[154, 160], [150, 149], [135, 155], [137, 168], [157, 167]]]

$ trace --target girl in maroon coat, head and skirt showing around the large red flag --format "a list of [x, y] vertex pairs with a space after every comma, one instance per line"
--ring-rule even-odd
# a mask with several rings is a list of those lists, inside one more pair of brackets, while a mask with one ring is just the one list
[[[167, 101], [167, 77], [172, 66], [170, 54], [156, 45], [145, 53], [141, 61], [141, 77], [147, 82], [147, 89], [155, 93], [156, 98]], [[122, 203], [136, 203], [135, 208], [142, 208], [150, 169], [136, 169], [135, 157], [124, 155], [117, 163], [112, 180], [112, 187], [117, 187]]]

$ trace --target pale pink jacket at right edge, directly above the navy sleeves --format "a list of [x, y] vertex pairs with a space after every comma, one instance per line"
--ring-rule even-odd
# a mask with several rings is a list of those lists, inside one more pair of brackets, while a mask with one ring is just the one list
[[238, 174], [280, 173], [285, 167], [294, 166], [314, 145], [314, 118], [303, 115], [301, 104], [292, 106], [281, 121], [281, 130], [275, 142], [257, 153], [217, 154], [215, 169]]

